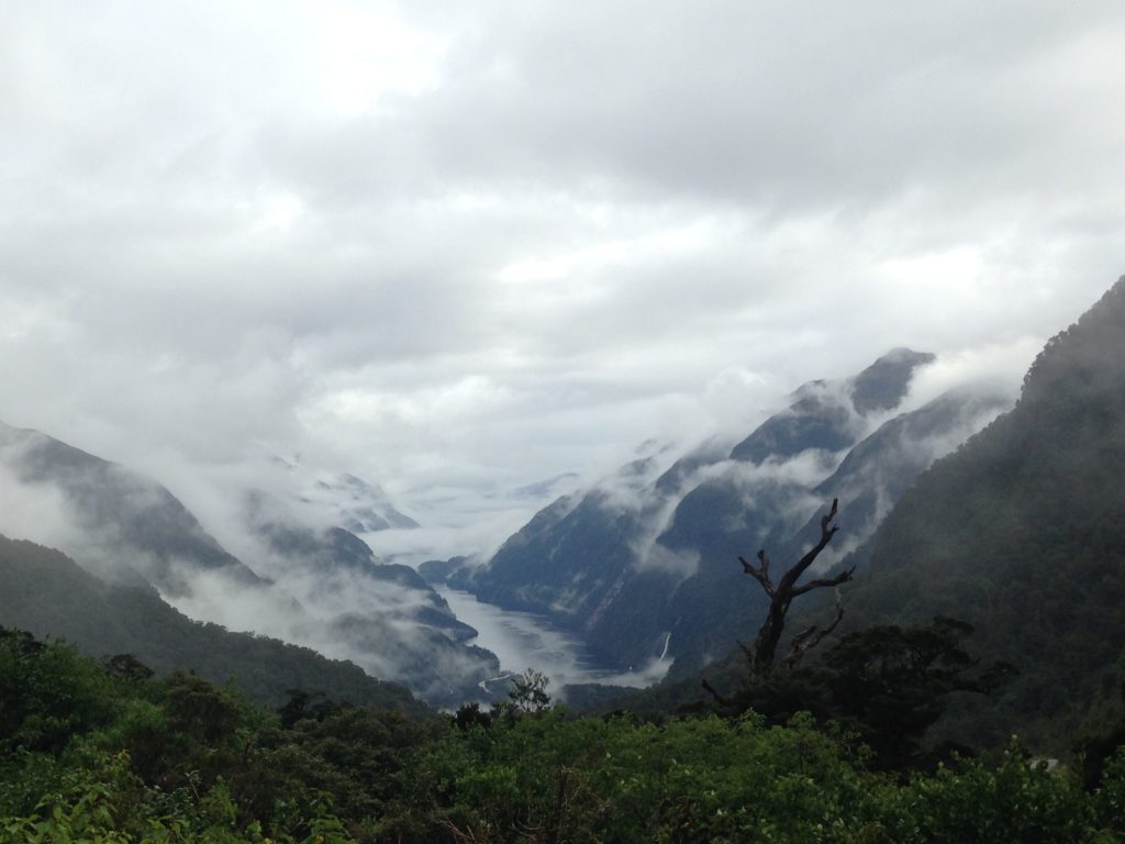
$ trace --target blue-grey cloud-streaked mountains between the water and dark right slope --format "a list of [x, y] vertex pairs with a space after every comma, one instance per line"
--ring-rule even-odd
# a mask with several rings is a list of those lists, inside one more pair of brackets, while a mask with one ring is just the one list
[[806, 384], [732, 446], [708, 442], [670, 465], [659, 450], [644, 455], [556, 500], [484, 566], [422, 571], [547, 614], [621, 668], [670, 656], [674, 674], [696, 670], [763, 612], [739, 555], [796, 554], [834, 497], [858, 545], [936, 457], [1009, 405], [963, 387], [908, 406], [915, 372], [933, 360], [897, 349], [852, 378]]

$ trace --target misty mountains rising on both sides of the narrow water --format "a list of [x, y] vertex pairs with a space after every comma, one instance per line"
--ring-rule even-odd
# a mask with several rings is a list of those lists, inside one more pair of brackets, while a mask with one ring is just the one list
[[[678, 458], [647, 443], [542, 509], [484, 565], [459, 557], [421, 574], [382, 563], [349, 529], [411, 529], [359, 478], [279, 461], [291, 483], [228, 491], [235, 505], [212, 532], [156, 482], [0, 427], [7, 531], [50, 527], [51, 544], [84, 567], [0, 540], [0, 625], [98, 655], [129, 650], [161, 671], [195, 659], [212, 676], [245, 673], [274, 700], [302, 677], [360, 700], [392, 689], [370, 685], [358, 665], [453, 704], [497, 663], [424, 577], [448, 580], [549, 616], [622, 668], [674, 659], [647, 694], [668, 709], [699, 699], [712, 659], [716, 684], [745, 675], [736, 644], [756, 631], [764, 598], [738, 557], [763, 548], [788, 566], [836, 499], [840, 531], [818, 571], [855, 568], [837, 632], [969, 622], [970, 649], [1018, 675], [996, 698], [954, 700], [938, 730], [989, 746], [1017, 728], [1060, 749], [1123, 710], [1125, 279], [1047, 343], [1014, 406], [980, 385], [921, 396], [932, 361], [894, 350], [853, 377], [804, 385], [745, 436]], [[794, 604], [790, 632], [824, 621], [835, 600]], [[274, 630], [356, 665], [261, 636]]]

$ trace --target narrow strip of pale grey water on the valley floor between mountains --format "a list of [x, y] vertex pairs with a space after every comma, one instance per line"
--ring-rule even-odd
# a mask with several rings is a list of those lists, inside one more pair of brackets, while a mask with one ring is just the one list
[[598, 659], [573, 632], [559, 628], [546, 616], [503, 610], [478, 601], [472, 594], [446, 585], [434, 587], [457, 618], [477, 629], [472, 644], [488, 648], [500, 658], [502, 671], [541, 671], [550, 677], [548, 691], [559, 699], [570, 683], [606, 683], [642, 688], [659, 682], [672, 659], [666, 655], [641, 666], [620, 672]]

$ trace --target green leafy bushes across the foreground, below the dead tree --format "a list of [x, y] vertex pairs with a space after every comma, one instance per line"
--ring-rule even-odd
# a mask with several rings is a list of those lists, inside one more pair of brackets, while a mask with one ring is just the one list
[[875, 771], [839, 727], [753, 711], [570, 719], [524, 686], [410, 719], [0, 635], [3, 842], [1115, 842], [1125, 755], [1083, 788], [1018, 744]]

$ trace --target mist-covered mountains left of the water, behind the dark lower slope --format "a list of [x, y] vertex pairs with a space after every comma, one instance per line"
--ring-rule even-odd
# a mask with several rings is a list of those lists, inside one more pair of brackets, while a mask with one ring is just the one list
[[[288, 486], [227, 487], [223, 529], [237, 537], [236, 556], [158, 482], [38, 431], [0, 424], [0, 492], [29, 514], [22, 522], [9, 514], [7, 529], [60, 548], [107, 587], [148, 589], [190, 618], [351, 659], [434, 703], [460, 702], [496, 674], [495, 656], [468, 644], [476, 631], [414, 569], [384, 564], [342, 527], [407, 529], [413, 520], [358, 477], [306, 476], [274, 463]], [[0, 616], [0, 623], [12, 618]], [[130, 647], [162, 663], [143, 643]]]

